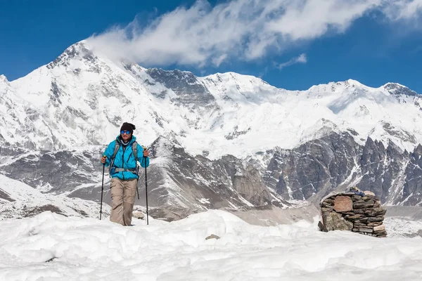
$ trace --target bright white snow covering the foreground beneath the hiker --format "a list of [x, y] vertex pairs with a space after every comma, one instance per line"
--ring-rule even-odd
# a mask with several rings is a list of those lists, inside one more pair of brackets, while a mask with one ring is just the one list
[[421, 280], [421, 237], [321, 233], [316, 221], [252, 226], [210, 210], [123, 227], [44, 212], [0, 221], [0, 280]]

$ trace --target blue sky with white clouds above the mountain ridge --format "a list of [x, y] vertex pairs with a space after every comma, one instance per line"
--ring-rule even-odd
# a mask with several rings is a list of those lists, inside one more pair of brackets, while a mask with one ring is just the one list
[[0, 0], [0, 74], [23, 77], [95, 34], [98, 52], [144, 67], [422, 93], [421, 18], [422, 0]]

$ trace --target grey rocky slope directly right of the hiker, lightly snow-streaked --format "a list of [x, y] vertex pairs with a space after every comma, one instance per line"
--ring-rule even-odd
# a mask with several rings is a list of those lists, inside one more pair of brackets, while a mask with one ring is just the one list
[[[154, 166], [152, 161], [148, 168], [151, 206], [173, 205], [174, 195], [170, 190], [177, 192], [179, 204], [184, 204], [181, 207], [244, 207], [245, 200], [255, 206], [285, 203], [281, 197], [279, 201], [274, 200], [257, 169], [231, 155], [216, 161], [201, 155], [193, 157], [178, 143], [162, 137], [151, 145], [150, 151], [151, 157], [167, 155], [165, 166]], [[140, 182], [143, 183], [143, 174]], [[161, 188], [164, 182], [167, 188]], [[144, 185], [140, 185], [141, 194], [143, 190]]]

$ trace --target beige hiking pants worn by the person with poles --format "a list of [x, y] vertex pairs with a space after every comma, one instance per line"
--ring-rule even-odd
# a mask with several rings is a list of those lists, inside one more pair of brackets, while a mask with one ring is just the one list
[[113, 221], [113, 223], [120, 223], [122, 226], [131, 225], [137, 183], [136, 178], [125, 181], [120, 178], [111, 179], [112, 209], [110, 221]]

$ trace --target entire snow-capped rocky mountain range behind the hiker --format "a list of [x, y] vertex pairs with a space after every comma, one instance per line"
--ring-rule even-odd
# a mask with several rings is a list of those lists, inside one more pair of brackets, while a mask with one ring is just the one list
[[[25, 77], [0, 77], [0, 173], [40, 192], [99, 200], [98, 157], [122, 122], [133, 122], [152, 152], [152, 206], [292, 207], [350, 185], [414, 206], [421, 101], [394, 83], [287, 91], [232, 72], [146, 69], [98, 57], [81, 41]], [[139, 188], [143, 195], [142, 178]]]

